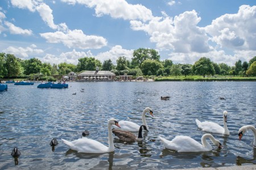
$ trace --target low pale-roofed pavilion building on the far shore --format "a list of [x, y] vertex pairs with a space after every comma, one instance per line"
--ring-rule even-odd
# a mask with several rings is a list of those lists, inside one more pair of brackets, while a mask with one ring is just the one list
[[84, 71], [77, 75], [79, 80], [114, 80], [115, 74], [111, 71]]

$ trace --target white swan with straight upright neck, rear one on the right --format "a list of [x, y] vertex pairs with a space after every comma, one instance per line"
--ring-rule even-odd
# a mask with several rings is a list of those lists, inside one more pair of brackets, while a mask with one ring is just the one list
[[220, 125], [218, 125], [214, 122], [208, 122], [208, 121], [200, 122], [197, 119], [196, 119], [196, 125], [198, 126], [198, 128], [200, 128], [204, 131], [229, 135], [229, 129], [228, 129], [228, 126], [226, 126], [227, 117], [228, 117], [228, 112], [224, 111], [223, 112], [224, 128], [222, 128]]

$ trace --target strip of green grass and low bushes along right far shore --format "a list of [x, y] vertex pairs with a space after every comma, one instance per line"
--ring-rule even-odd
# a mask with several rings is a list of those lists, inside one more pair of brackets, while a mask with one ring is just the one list
[[155, 82], [161, 82], [161, 81], [197, 81], [197, 82], [232, 82], [232, 81], [236, 81], [236, 82], [256, 82], [256, 76], [254, 77], [242, 77], [242, 76], [205, 76], [205, 78], [203, 76], [166, 76], [166, 77], [157, 77], [154, 79]]

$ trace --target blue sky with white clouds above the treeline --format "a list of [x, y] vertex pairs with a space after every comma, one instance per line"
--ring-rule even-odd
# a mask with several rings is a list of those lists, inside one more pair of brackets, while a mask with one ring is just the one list
[[160, 60], [201, 57], [234, 66], [256, 56], [254, 0], [0, 0], [0, 52], [77, 65], [131, 60], [139, 48]]

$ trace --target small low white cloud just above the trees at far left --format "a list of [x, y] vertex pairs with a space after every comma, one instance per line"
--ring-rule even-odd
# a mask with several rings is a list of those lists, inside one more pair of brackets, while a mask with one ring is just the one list
[[36, 45], [32, 44], [30, 47], [14, 47], [14, 46], [9, 46], [7, 49], [4, 49], [4, 53], [9, 53], [9, 54], [14, 54], [14, 56], [19, 57], [19, 58], [27, 58], [30, 57], [30, 55], [35, 55], [35, 54], [40, 54], [43, 53], [44, 51], [42, 49], [35, 49]]

